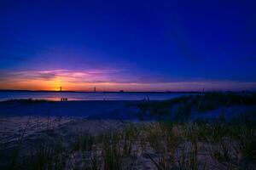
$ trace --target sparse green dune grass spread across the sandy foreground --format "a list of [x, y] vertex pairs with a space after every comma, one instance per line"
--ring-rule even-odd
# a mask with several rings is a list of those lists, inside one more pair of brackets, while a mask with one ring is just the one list
[[[97, 136], [79, 132], [72, 138], [70, 144], [61, 139], [38, 144], [1, 169], [133, 169], [143, 156], [155, 169], [246, 169], [255, 162], [255, 127], [244, 123], [128, 123], [118, 131]], [[200, 158], [201, 152], [208, 161]], [[79, 153], [83, 158], [75, 158]]]

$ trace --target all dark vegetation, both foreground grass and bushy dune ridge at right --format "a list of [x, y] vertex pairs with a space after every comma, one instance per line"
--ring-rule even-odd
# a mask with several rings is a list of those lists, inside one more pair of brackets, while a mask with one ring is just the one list
[[[163, 102], [149, 100], [138, 104], [140, 111], [165, 115], [176, 106], [174, 121], [127, 122], [122, 129], [90, 134], [77, 131], [67, 139], [61, 133], [55, 140], [38, 142], [22, 153], [23, 137], [1, 157], [0, 169], [115, 170], [144, 169], [147, 161], [158, 170], [255, 169], [256, 123], [239, 116], [226, 122], [219, 116], [212, 122], [187, 122], [190, 111], [212, 111], [229, 105], [255, 105], [255, 94], [185, 96]], [[249, 113], [255, 114], [255, 113]], [[26, 128], [25, 128], [26, 130]], [[1, 156], [1, 153], [0, 153]]]

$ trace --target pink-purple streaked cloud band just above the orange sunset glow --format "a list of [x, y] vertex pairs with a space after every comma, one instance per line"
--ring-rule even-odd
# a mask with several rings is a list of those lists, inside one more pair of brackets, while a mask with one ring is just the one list
[[[5, 71], [2, 81], [53, 81], [61, 80], [70, 83], [160, 83], [167, 82], [163, 75], [149, 76], [136, 71], [106, 68], [84, 71], [47, 70], [47, 71]], [[1, 81], [1, 80], [0, 80]]]

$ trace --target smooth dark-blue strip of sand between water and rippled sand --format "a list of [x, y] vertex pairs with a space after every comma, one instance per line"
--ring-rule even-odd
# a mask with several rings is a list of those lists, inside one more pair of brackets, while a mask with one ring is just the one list
[[[78, 116], [88, 117], [126, 108], [136, 101], [55, 101], [0, 102], [0, 116]], [[137, 101], [138, 102], [138, 101]]]

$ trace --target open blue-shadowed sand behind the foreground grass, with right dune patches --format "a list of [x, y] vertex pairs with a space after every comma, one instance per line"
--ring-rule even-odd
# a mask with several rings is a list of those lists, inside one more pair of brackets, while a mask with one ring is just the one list
[[[135, 101], [0, 102], [0, 144], [18, 140], [24, 130], [24, 137], [65, 127], [97, 133], [118, 128], [120, 122], [140, 122], [139, 109], [132, 104]], [[204, 114], [195, 113], [191, 119], [214, 119], [222, 111], [223, 108], [218, 108]], [[249, 111], [256, 111], [256, 106], [232, 105], [225, 115], [232, 117]]]

